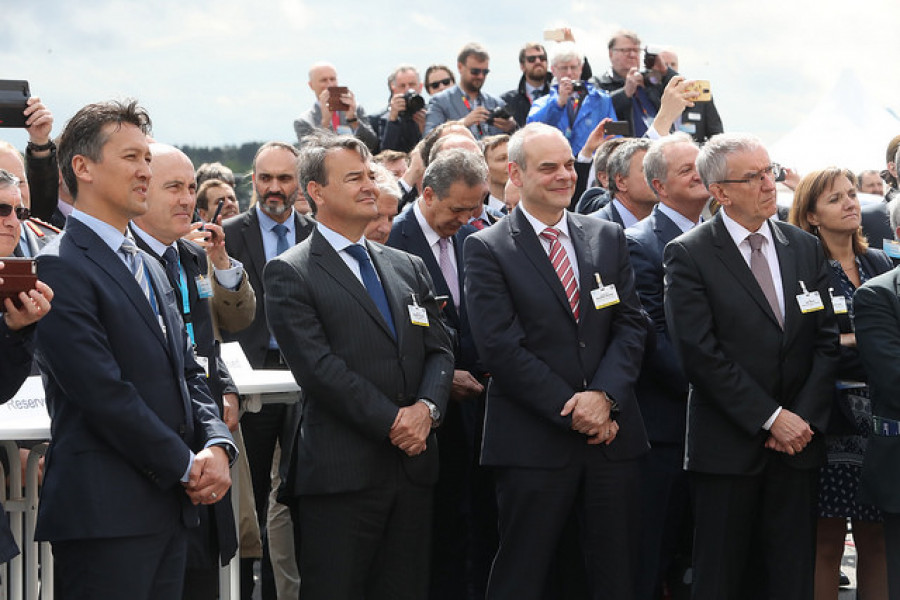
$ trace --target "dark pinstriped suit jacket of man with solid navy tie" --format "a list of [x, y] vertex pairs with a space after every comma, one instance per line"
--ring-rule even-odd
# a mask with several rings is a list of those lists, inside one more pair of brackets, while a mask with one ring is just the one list
[[[422, 261], [367, 242], [384, 285], [397, 339], [366, 288], [318, 231], [266, 265], [266, 311], [297, 383], [303, 387], [292, 472], [295, 495], [370, 489], [396, 477], [437, 479], [434, 433], [414, 458], [393, 446], [400, 407], [428, 398], [443, 413], [453, 354], [439, 324]], [[430, 325], [410, 322], [415, 294]]]

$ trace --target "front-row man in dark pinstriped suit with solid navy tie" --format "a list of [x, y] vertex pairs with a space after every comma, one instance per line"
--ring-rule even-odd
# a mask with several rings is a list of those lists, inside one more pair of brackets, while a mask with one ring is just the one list
[[306, 600], [419, 599], [428, 586], [431, 429], [453, 355], [422, 261], [363, 238], [377, 214], [370, 160], [349, 136], [304, 148], [318, 224], [264, 277], [272, 331], [305, 391], [289, 477]]

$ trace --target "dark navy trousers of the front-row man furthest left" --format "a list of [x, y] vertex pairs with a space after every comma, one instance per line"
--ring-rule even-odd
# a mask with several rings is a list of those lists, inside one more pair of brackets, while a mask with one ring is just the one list
[[180, 523], [156, 535], [53, 542], [57, 600], [180, 598], [187, 560]]

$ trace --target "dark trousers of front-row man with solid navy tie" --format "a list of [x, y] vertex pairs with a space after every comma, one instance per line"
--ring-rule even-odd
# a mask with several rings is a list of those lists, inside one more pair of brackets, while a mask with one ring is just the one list
[[422, 600], [428, 590], [432, 487], [397, 464], [384, 485], [297, 498], [303, 600]]

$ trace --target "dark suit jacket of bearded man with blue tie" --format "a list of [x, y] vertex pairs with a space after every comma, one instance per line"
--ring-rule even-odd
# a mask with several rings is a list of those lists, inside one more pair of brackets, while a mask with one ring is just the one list
[[[294, 211], [294, 232], [296, 242], [301, 242], [310, 234], [315, 221], [306, 215]], [[266, 266], [266, 253], [262, 243], [262, 232], [259, 230], [259, 217], [256, 208], [251, 206], [246, 212], [235, 215], [222, 224], [225, 230], [225, 249], [228, 255], [244, 264], [244, 271], [250, 279], [250, 285], [256, 294], [256, 313], [249, 327], [241, 331], [227, 329], [225, 323], [222, 337], [226, 342], [240, 342], [247, 360], [255, 369], [263, 366], [266, 352], [269, 350], [269, 325], [266, 320], [265, 291], [262, 285], [263, 267]]]

